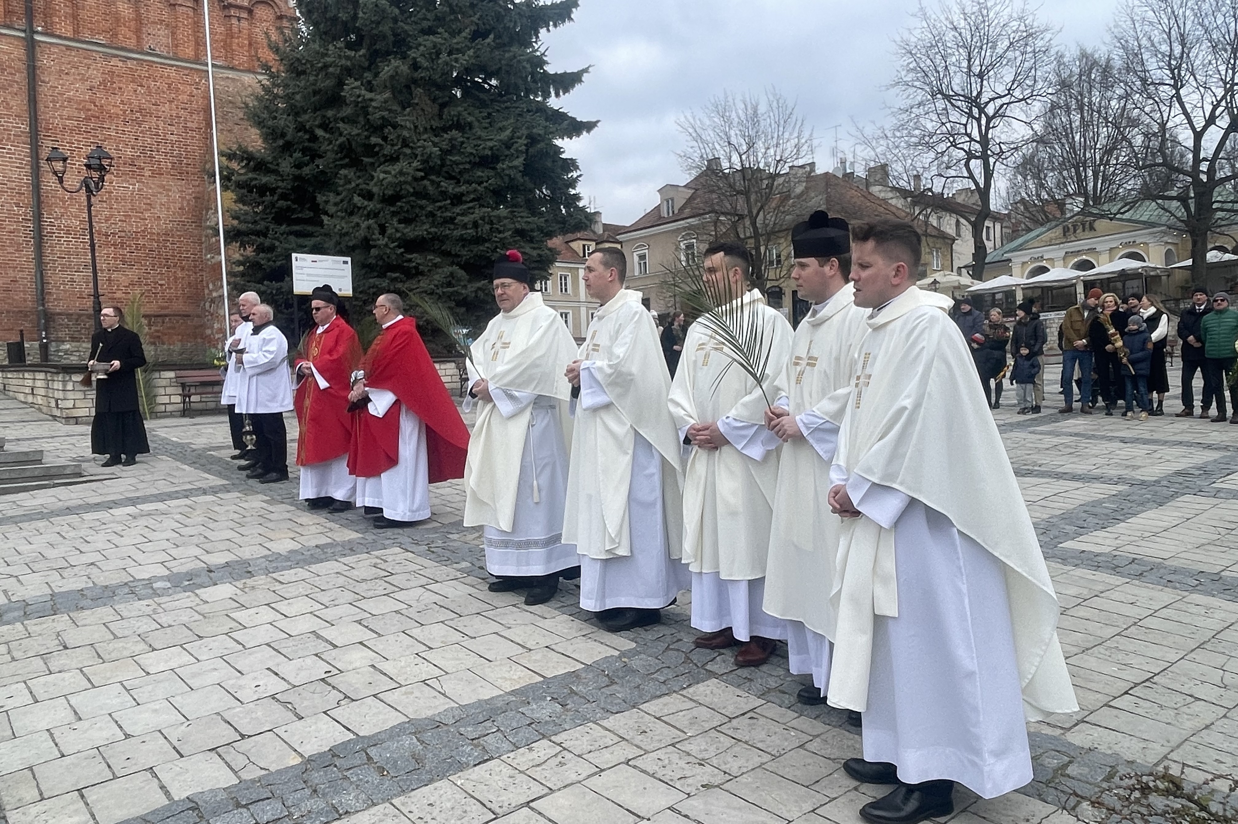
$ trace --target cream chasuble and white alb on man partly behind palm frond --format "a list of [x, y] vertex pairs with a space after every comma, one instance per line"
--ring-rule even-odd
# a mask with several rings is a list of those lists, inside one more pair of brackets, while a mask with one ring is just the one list
[[[737, 301], [755, 313], [768, 369], [759, 386], [738, 365], [707, 320], [693, 323], [671, 384], [671, 414], [682, 439], [693, 423], [717, 423], [729, 442], [692, 449], [683, 473], [683, 562], [692, 572], [692, 626], [730, 627], [740, 641], [758, 635], [786, 638], [784, 621], [761, 609], [777, 453], [764, 434], [770, 400], [786, 393], [784, 364], [791, 359], [791, 325], [753, 290]], [[764, 391], [763, 391], [764, 390]]]

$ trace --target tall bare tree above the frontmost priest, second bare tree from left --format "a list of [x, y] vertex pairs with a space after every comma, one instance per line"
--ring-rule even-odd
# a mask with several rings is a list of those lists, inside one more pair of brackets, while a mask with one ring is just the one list
[[1055, 57], [1055, 30], [1024, 0], [943, 0], [924, 5], [895, 41], [900, 97], [890, 134], [943, 182], [971, 186], [972, 276], [982, 280], [998, 177], [1034, 139]]

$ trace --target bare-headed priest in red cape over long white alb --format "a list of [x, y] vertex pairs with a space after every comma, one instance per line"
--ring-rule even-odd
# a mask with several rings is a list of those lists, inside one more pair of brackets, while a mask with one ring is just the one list
[[[397, 294], [374, 301], [383, 330], [353, 374], [348, 470], [357, 502], [391, 530], [430, 517], [430, 485], [464, 476], [468, 428], [443, 386], [417, 323]], [[379, 513], [381, 511], [381, 513]]]

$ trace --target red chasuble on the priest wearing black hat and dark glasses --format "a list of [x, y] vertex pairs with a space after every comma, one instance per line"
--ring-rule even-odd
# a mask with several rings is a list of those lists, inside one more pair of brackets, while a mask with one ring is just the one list
[[296, 367], [310, 363], [331, 386], [318, 388], [314, 376], [297, 385], [293, 406], [301, 436], [297, 438], [297, 465], [321, 464], [348, 453], [353, 439], [353, 416], [348, 412], [348, 387], [361, 344], [343, 318], [334, 318], [319, 334], [314, 327], [306, 335]]

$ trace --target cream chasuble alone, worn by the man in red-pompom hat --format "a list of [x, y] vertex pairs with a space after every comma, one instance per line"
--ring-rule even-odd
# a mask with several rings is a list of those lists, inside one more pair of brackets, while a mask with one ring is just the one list
[[[552, 447], [550, 452], [566, 455], [571, 445], [567, 401], [572, 386], [563, 369], [576, 358], [576, 341], [558, 312], [547, 307], [540, 293], [530, 292], [520, 306], [490, 320], [470, 353], [469, 382], [484, 377], [490, 384], [490, 393], [499, 400], [479, 403], [469, 438], [464, 464], [464, 526], [485, 525], [511, 532], [517, 492], [521, 496], [527, 492], [531, 504], [541, 504], [542, 499], [536, 481], [536, 460], [530, 461], [534, 468], [530, 489], [520, 490], [515, 483], [526, 450], [534, 448], [535, 406], [560, 407], [546, 411], [557, 418], [555, 428], [563, 440], [562, 449]], [[529, 457], [536, 459], [537, 455]], [[562, 501], [547, 504], [557, 506], [553, 520], [562, 523]]]

